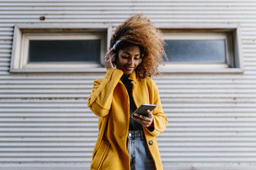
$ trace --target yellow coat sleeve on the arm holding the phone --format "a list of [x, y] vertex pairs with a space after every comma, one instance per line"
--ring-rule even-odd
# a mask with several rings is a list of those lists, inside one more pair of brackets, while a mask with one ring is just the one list
[[154, 137], [159, 136], [164, 129], [166, 128], [166, 125], [168, 123], [168, 120], [166, 116], [164, 115], [161, 100], [159, 97], [159, 92], [156, 83], [154, 82], [153, 85], [153, 104], [156, 104], [156, 108], [152, 111], [153, 119], [154, 119], [154, 130], [150, 131], [147, 129], [147, 131]]

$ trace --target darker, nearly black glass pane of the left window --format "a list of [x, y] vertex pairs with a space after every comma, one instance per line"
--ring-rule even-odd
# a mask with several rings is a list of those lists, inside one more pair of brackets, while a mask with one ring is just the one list
[[30, 40], [29, 62], [99, 62], [100, 39]]

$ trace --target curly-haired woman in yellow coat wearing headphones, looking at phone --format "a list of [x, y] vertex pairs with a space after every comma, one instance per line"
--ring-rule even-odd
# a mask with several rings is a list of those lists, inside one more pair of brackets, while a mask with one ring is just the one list
[[[163, 64], [163, 44], [161, 33], [141, 14], [116, 28], [105, 56], [107, 73], [94, 81], [88, 99], [88, 107], [99, 117], [90, 169], [163, 169], [156, 136], [168, 120], [150, 78]], [[146, 116], [130, 117], [141, 104], [156, 108]]]

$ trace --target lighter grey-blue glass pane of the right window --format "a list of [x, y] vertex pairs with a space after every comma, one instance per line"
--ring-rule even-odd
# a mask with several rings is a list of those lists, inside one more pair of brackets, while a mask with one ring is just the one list
[[165, 42], [164, 50], [169, 62], [226, 62], [225, 40], [165, 40]]

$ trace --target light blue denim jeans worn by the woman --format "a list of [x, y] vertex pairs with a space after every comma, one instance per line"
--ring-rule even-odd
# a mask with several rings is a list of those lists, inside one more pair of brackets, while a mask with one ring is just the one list
[[127, 150], [131, 158], [131, 170], [155, 170], [144, 132], [140, 130], [129, 131], [127, 141]]

